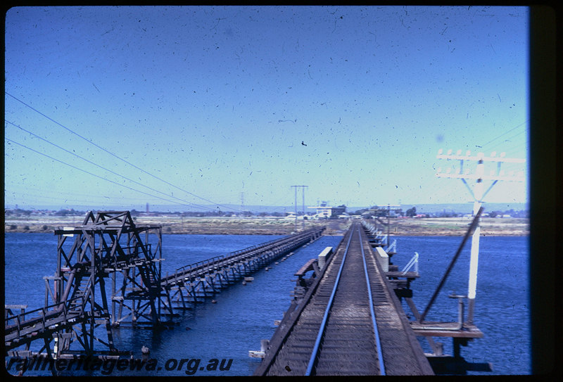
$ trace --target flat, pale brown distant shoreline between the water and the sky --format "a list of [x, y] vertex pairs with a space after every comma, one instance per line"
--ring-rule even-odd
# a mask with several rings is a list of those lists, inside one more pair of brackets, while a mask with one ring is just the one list
[[[83, 217], [38, 216], [10, 217], [4, 222], [4, 232], [53, 233], [59, 227], [78, 227]], [[163, 234], [194, 235], [289, 235], [303, 229], [303, 220], [280, 217], [139, 217], [136, 224], [157, 224]], [[305, 228], [326, 226], [324, 234], [341, 235], [348, 229], [351, 220], [305, 220]], [[374, 220], [371, 220], [374, 223]], [[391, 225], [378, 224], [383, 234], [391, 236], [463, 236], [471, 219], [462, 217], [429, 217], [420, 219], [390, 219]], [[491, 218], [481, 219], [481, 236], [529, 236], [529, 219]]]

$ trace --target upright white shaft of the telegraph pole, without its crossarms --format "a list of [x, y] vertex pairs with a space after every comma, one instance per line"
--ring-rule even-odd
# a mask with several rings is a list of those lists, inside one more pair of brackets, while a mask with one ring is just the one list
[[[473, 215], [476, 216], [481, 208], [481, 199], [483, 198], [483, 174], [485, 173], [485, 165], [483, 165], [483, 153], [477, 155], [479, 163], [476, 167], [477, 183], [475, 184], [475, 201], [473, 203]], [[471, 260], [469, 260], [469, 287], [467, 291], [467, 298], [469, 300], [469, 307], [467, 311], [467, 322], [473, 322], [473, 312], [475, 306], [475, 295], [477, 289], [477, 267], [479, 265], [479, 236], [481, 236], [481, 226], [477, 222], [475, 231], [471, 241]]]

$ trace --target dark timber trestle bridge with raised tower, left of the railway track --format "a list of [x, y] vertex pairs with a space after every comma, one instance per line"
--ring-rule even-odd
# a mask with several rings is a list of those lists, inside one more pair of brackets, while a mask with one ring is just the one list
[[[5, 306], [6, 355], [129, 355], [114, 347], [113, 327], [171, 325], [163, 317], [213, 298], [222, 288], [315, 241], [323, 231], [307, 229], [163, 276], [160, 226], [137, 225], [129, 211], [88, 212], [80, 227], [55, 230], [57, 268], [54, 276], [44, 277], [44, 307], [25, 312], [26, 305]], [[30, 344], [36, 340], [42, 348], [32, 351]]]

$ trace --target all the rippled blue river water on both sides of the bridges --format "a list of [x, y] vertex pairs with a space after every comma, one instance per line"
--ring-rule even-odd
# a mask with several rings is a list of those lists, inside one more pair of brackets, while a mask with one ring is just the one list
[[[204, 236], [163, 235], [163, 274], [177, 267], [232, 250], [253, 246], [280, 236]], [[167, 371], [168, 359], [201, 359], [200, 367], [210, 359], [232, 359], [229, 370], [207, 371], [196, 368], [196, 376], [251, 375], [260, 360], [248, 357], [248, 350], [260, 350], [260, 340], [269, 339], [289, 307], [293, 291], [293, 273], [307, 260], [316, 257], [324, 247], [337, 246], [341, 236], [324, 236], [310, 246], [301, 248], [288, 260], [274, 265], [269, 272], [262, 269], [246, 286], [231, 286], [217, 295], [217, 303], [198, 305], [175, 319], [172, 330], [121, 328], [114, 331], [115, 345], [132, 351], [141, 358], [141, 346], [151, 350], [151, 358], [163, 367], [160, 371], [113, 371], [112, 375], [185, 376], [182, 370]], [[393, 262], [405, 265], [415, 251], [419, 253], [420, 279], [412, 288], [420, 311], [424, 310], [445, 267], [461, 243], [459, 237], [399, 236], [398, 255]], [[528, 298], [528, 238], [481, 238], [479, 278], [476, 296], [475, 324], [485, 333], [484, 338], [469, 342], [462, 355], [471, 362], [492, 362], [493, 374], [529, 374], [529, 298]], [[53, 234], [11, 234], [5, 238], [5, 303], [27, 304], [28, 310], [42, 307], [44, 280], [56, 268], [56, 236]], [[457, 261], [443, 292], [429, 312], [429, 320], [457, 320], [457, 300], [450, 291], [467, 294], [469, 273], [469, 243]], [[405, 305], [405, 311], [408, 308]], [[190, 328], [190, 330], [186, 330]], [[514, 336], [514, 332], [519, 333]], [[103, 336], [102, 336], [103, 338]], [[445, 352], [453, 352], [450, 338], [444, 338]], [[429, 350], [425, 342], [423, 348]], [[34, 345], [32, 345], [33, 347]], [[100, 348], [101, 349], [101, 348]], [[168, 364], [172, 366], [172, 364]], [[190, 364], [193, 367], [194, 364]], [[101, 375], [100, 371], [82, 371]], [[48, 372], [25, 375], [44, 374]], [[73, 374], [77, 374], [75, 371]], [[481, 374], [473, 372], [472, 374]], [[64, 373], [63, 373], [64, 375]], [[488, 374], [486, 374], [488, 375]]]

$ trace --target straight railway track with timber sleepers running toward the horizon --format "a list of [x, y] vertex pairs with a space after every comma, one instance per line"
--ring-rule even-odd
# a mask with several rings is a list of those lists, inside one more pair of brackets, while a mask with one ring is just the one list
[[311, 288], [255, 375], [432, 374], [361, 224], [350, 227]]

